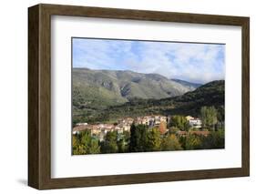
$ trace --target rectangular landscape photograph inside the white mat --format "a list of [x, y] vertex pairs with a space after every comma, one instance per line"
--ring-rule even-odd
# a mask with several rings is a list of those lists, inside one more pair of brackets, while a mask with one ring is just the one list
[[72, 155], [225, 148], [225, 44], [71, 38]]

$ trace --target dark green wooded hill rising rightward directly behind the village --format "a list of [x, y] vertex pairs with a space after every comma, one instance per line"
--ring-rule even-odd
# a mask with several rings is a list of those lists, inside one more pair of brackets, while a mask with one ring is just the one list
[[223, 80], [213, 81], [178, 97], [134, 98], [125, 104], [86, 114], [89, 117], [83, 117], [86, 116], [85, 114], [77, 114], [75, 118], [79, 121], [97, 122], [113, 121], [118, 117], [138, 117], [153, 114], [179, 114], [198, 117], [202, 106], [214, 106], [218, 108], [220, 114], [224, 115], [224, 84]]

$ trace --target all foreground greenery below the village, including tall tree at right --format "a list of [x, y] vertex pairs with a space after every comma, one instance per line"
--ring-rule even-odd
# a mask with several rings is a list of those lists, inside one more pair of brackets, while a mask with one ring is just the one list
[[169, 125], [161, 123], [154, 128], [133, 123], [129, 132], [118, 134], [118, 131], [109, 131], [104, 141], [99, 141], [91, 136], [90, 130], [85, 130], [73, 135], [73, 154], [224, 148], [224, 120], [218, 115], [215, 107], [200, 108], [201, 130], [208, 131], [207, 135], [195, 133], [196, 129], [190, 128], [182, 116], [173, 116]]

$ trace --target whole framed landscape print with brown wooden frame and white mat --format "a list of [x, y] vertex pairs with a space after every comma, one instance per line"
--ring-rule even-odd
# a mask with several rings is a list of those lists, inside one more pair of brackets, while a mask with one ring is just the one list
[[250, 174], [249, 17], [28, 8], [28, 185]]

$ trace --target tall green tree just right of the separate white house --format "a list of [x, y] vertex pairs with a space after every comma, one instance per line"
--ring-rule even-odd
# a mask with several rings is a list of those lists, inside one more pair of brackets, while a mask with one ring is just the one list
[[200, 118], [202, 121], [202, 128], [214, 129], [218, 122], [218, 112], [215, 107], [201, 107]]

